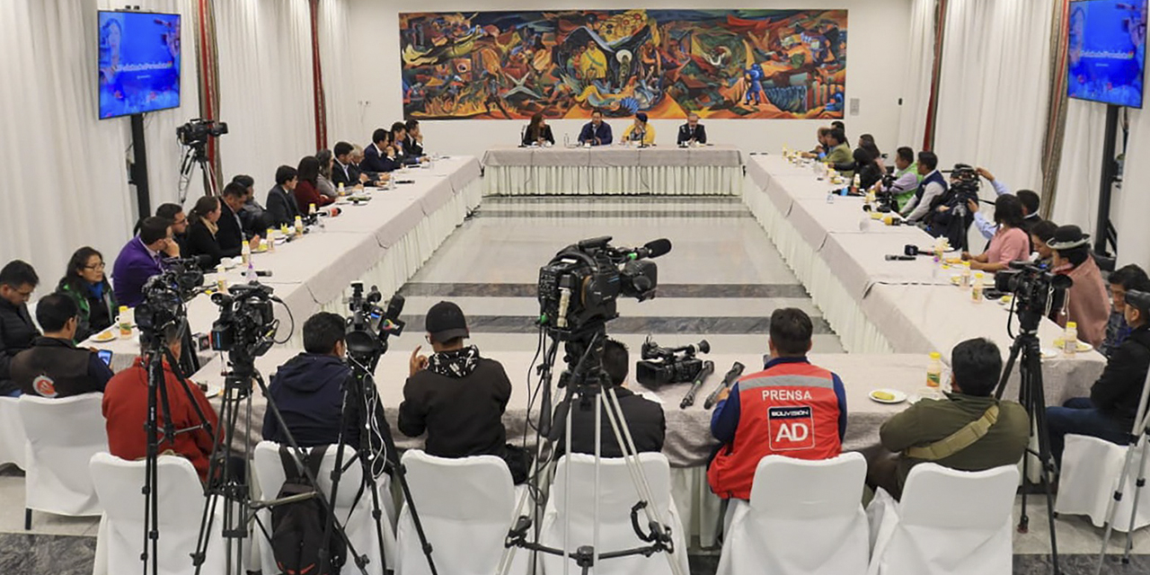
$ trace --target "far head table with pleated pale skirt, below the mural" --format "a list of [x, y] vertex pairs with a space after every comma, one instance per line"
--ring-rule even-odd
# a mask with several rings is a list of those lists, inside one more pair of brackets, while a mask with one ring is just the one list
[[501, 146], [483, 166], [485, 195], [738, 195], [744, 181], [743, 153], [726, 145]]

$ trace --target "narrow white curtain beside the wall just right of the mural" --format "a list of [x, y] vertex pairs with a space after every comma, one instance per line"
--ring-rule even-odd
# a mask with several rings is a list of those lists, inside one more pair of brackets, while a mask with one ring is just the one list
[[906, 44], [906, 76], [903, 106], [898, 114], [898, 145], [915, 151], [926, 135], [930, 106], [930, 76], [934, 71], [936, 0], [914, 0], [911, 8], [911, 34]]

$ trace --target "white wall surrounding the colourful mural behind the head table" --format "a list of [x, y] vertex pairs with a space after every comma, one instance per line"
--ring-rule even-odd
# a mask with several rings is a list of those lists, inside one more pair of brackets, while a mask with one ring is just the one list
[[[331, 141], [346, 139], [360, 145], [369, 143], [374, 128], [390, 126], [402, 120], [400, 93], [399, 17], [400, 12], [463, 12], [523, 9], [524, 2], [513, 0], [424, 0], [417, 3], [391, 0], [351, 0], [355, 80], [351, 89], [355, 101], [358, 133], [332, 133]], [[902, 95], [906, 63], [904, 49], [910, 26], [911, 0], [729, 0], [707, 6], [699, 0], [631, 0], [619, 5], [580, 6], [568, 1], [538, 0], [532, 10], [546, 9], [629, 9], [629, 8], [845, 8], [848, 13], [846, 99], [859, 99], [859, 114], [848, 115], [848, 136], [873, 133], [879, 147], [892, 153], [899, 145], [898, 99]], [[328, 92], [337, 90], [328, 86]], [[329, 97], [330, 98], [330, 97]], [[348, 99], [345, 99], [348, 100]], [[549, 120], [555, 139], [564, 135], [574, 139], [584, 120]], [[653, 120], [658, 143], [674, 144], [675, 130], [682, 120]], [[519, 143], [524, 122], [499, 120], [421, 121], [424, 147], [429, 152], [474, 154], [493, 145]], [[814, 132], [829, 121], [820, 120], [706, 120], [708, 140], [734, 143], [744, 151], [779, 151], [784, 144], [793, 147], [813, 146]], [[627, 122], [614, 120], [615, 133], [622, 133]], [[853, 144], [853, 141], [852, 141]], [[912, 143], [913, 144], [913, 143]]]

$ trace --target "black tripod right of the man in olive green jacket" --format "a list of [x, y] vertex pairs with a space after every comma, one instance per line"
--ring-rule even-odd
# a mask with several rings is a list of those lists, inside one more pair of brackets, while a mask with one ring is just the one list
[[[1018, 298], [1015, 297], [1015, 300]], [[1012, 306], [1013, 307], [1013, 306]], [[1012, 315], [1014, 309], [1011, 309]], [[1029, 447], [1022, 454], [1022, 477], [1023, 482], [1029, 475], [1030, 455], [1037, 455], [1038, 458], [1038, 474], [1040, 481], [1042, 483], [1042, 489], [1046, 494], [1046, 520], [1050, 524], [1050, 561], [1053, 567], [1053, 574], [1058, 575], [1058, 539], [1055, 535], [1055, 500], [1053, 493], [1050, 489], [1050, 474], [1055, 471], [1055, 459], [1050, 453], [1050, 434], [1046, 429], [1046, 400], [1045, 393], [1042, 386], [1042, 350], [1038, 344], [1038, 323], [1042, 321], [1043, 314], [1040, 310], [1030, 309], [1028, 305], [1022, 304], [1018, 308], [1019, 323], [1021, 324], [1021, 331], [1018, 337], [1014, 338], [1014, 343], [1011, 344], [1010, 356], [1006, 359], [1006, 365], [1003, 369], [1002, 379], [998, 382], [998, 388], [995, 391], [995, 398], [1002, 399], [1003, 392], [1006, 391], [1006, 382], [1010, 378], [1011, 371], [1014, 368], [1014, 363], [1021, 358], [1019, 363], [1019, 391], [1018, 400], [1019, 404], [1026, 409], [1027, 415], [1030, 419], [1030, 439], [1037, 440], [1038, 451], [1035, 453]], [[1007, 324], [1007, 331], [1010, 325]], [[1025, 534], [1029, 531], [1030, 518], [1026, 511], [1027, 501], [1027, 490], [1022, 490], [1022, 512], [1019, 516], [1018, 532]]]

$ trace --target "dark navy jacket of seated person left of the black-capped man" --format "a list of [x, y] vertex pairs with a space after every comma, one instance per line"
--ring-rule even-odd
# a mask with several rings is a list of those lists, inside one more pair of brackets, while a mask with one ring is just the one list
[[[299, 446], [335, 445], [339, 442], [344, 384], [351, 377], [351, 368], [335, 355], [300, 353], [279, 366], [271, 377], [268, 393]], [[348, 405], [352, 411], [344, 437], [347, 445], [358, 450], [359, 411], [355, 401], [348, 401]], [[288, 435], [270, 409], [263, 415], [263, 438], [288, 443]]]

